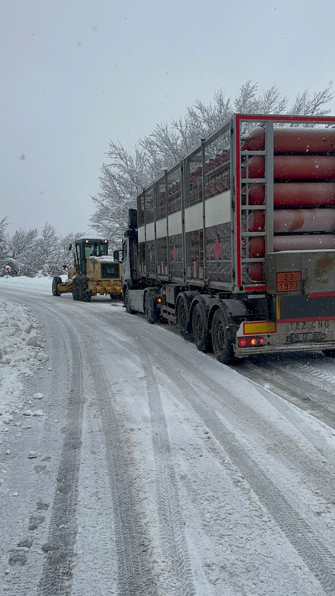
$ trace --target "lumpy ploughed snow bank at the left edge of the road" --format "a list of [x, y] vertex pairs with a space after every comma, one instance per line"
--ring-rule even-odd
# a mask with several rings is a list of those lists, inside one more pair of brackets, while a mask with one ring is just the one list
[[29, 308], [0, 298], [0, 430], [21, 409], [22, 376], [29, 377], [48, 360], [42, 346], [39, 323]]

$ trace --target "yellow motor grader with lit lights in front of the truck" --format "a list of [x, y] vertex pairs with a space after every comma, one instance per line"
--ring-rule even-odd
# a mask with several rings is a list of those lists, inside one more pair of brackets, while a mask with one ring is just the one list
[[[80, 238], [73, 253], [73, 268], [67, 271], [67, 280], [52, 280], [52, 295], [61, 296], [72, 292], [73, 300], [90, 302], [92, 296], [110, 294], [111, 300], [122, 300], [121, 263], [108, 257], [108, 240]], [[63, 265], [67, 269], [66, 265]]]

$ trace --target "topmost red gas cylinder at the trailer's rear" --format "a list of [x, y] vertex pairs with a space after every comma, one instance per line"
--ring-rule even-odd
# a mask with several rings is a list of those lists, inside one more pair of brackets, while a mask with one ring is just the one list
[[[242, 151], [262, 151], [265, 132], [256, 126], [246, 135]], [[334, 128], [275, 128], [274, 153], [334, 153]]]

